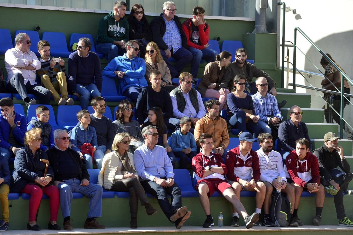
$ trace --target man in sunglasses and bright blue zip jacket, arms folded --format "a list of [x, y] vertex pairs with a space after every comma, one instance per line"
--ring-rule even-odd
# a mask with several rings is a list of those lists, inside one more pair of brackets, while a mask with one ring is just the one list
[[142, 88], [147, 86], [146, 63], [137, 56], [140, 51], [139, 42], [130, 40], [125, 44], [125, 49], [126, 53], [110, 61], [102, 75], [119, 79], [119, 93], [136, 103]]

